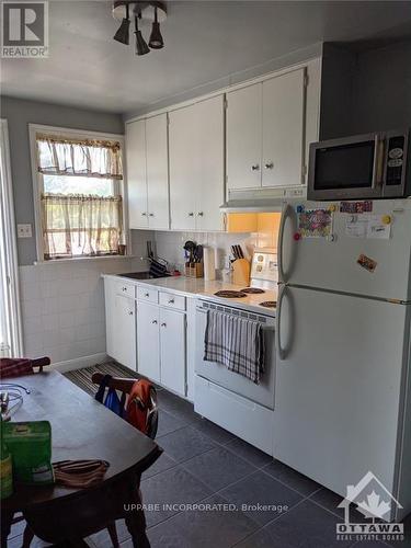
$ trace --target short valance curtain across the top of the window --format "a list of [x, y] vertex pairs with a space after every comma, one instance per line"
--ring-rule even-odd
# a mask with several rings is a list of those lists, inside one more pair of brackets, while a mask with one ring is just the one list
[[117, 141], [79, 140], [36, 135], [38, 171], [46, 175], [88, 175], [123, 179]]

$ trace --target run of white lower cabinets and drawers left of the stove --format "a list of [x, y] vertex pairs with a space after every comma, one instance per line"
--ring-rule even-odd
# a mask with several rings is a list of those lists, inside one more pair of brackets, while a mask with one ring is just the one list
[[192, 330], [187, 336], [185, 297], [160, 292], [159, 305], [157, 288], [135, 287], [116, 276], [105, 276], [104, 294], [107, 354], [153, 383], [193, 399], [192, 387], [190, 393], [187, 388], [187, 345], [194, 347], [194, 340]]

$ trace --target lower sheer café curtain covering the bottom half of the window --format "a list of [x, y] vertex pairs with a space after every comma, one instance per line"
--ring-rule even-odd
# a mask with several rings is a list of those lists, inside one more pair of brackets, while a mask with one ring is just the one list
[[44, 258], [117, 254], [122, 197], [43, 194]]

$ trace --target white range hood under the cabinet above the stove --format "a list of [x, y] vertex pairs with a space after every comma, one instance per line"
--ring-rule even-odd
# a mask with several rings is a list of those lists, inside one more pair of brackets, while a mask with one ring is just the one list
[[307, 196], [306, 186], [228, 190], [227, 201], [220, 206], [222, 213], [271, 213], [282, 212], [284, 203], [301, 201]]

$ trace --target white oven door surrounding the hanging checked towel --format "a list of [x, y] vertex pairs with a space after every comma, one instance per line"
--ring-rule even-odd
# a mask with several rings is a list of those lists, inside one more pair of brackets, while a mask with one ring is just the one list
[[204, 335], [207, 324], [207, 310], [198, 302], [195, 312], [196, 323], [196, 375], [219, 385], [231, 392], [260, 403], [269, 409], [274, 409], [275, 386], [275, 319], [267, 318], [264, 327], [265, 370], [259, 385], [250, 379], [228, 370], [224, 365], [204, 361]]

